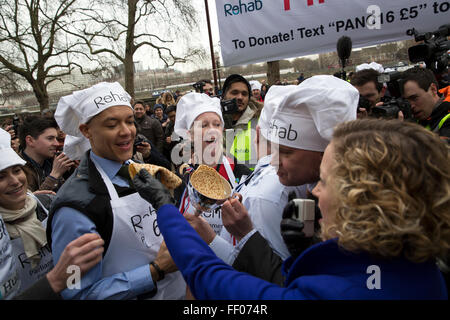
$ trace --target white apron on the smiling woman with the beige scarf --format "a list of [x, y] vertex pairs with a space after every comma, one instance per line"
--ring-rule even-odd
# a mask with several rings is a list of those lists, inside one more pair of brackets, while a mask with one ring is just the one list
[[[39, 199], [32, 193], [27, 193], [27, 195], [33, 197], [48, 216], [48, 210], [42, 205]], [[47, 227], [47, 218], [45, 218], [45, 220], [41, 223], [45, 229]], [[34, 269], [31, 269], [31, 262], [25, 254], [22, 238], [12, 239], [11, 245], [21, 282], [19, 293], [22, 293], [53, 269], [53, 256], [49, 245], [46, 244], [44, 247], [39, 249], [39, 255], [41, 257], [39, 265]]]

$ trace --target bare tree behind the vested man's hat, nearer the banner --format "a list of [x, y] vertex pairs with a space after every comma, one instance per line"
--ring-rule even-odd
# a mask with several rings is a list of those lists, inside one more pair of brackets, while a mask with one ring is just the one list
[[[69, 32], [83, 39], [91, 54], [109, 54], [123, 64], [125, 89], [131, 96], [137, 50], [153, 49], [167, 68], [203, 53], [196, 48], [183, 55], [174, 52], [197, 26], [189, 0], [94, 0], [89, 1], [82, 15], [83, 22]], [[180, 35], [184, 37], [180, 39]]]

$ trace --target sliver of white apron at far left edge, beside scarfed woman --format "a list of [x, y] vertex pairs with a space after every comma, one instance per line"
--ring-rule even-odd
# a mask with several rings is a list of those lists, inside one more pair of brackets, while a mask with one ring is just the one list
[[9, 300], [20, 289], [20, 278], [13, 259], [11, 241], [5, 223], [0, 216], [0, 300]]

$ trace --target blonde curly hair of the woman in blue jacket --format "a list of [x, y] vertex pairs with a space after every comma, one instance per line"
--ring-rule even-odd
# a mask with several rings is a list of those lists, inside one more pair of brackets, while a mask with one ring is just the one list
[[355, 120], [332, 139], [336, 217], [322, 231], [353, 252], [445, 257], [450, 248], [448, 145], [417, 124]]

